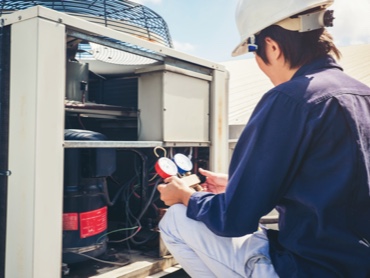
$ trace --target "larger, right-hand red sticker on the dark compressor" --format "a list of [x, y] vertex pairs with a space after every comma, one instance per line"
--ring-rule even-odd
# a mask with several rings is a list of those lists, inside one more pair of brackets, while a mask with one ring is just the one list
[[80, 237], [97, 235], [107, 229], [107, 207], [80, 213]]

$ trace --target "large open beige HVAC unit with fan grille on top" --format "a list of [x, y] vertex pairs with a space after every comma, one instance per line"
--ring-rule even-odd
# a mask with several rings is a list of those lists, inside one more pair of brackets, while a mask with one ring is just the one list
[[174, 50], [164, 20], [134, 2], [0, 4], [0, 276], [176, 264], [155, 165], [181, 154], [193, 165], [181, 177], [227, 171], [224, 67]]

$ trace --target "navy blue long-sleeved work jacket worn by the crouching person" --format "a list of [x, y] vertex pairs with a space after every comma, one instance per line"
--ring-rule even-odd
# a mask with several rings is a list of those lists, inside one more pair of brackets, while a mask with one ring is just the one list
[[370, 277], [369, 188], [370, 88], [327, 56], [263, 96], [226, 192], [194, 193], [187, 216], [238, 237], [276, 208], [268, 238], [280, 277]]

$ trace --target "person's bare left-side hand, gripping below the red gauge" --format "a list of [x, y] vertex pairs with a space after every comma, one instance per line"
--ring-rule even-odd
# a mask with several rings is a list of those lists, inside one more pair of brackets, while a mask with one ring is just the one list
[[165, 183], [158, 185], [157, 189], [161, 193], [161, 200], [167, 205], [174, 204], [188, 205], [190, 196], [195, 192], [194, 189], [185, 185], [184, 182], [172, 176], [164, 180]]

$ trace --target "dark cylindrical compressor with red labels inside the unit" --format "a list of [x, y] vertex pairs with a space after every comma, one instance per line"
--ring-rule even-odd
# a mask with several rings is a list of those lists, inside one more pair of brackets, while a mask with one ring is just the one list
[[[106, 140], [103, 134], [68, 129], [65, 140]], [[107, 249], [107, 181], [116, 170], [116, 150], [65, 149], [63, 263], [97, 257]]]

